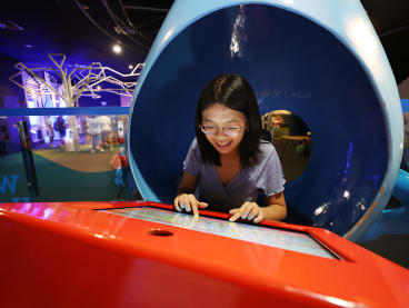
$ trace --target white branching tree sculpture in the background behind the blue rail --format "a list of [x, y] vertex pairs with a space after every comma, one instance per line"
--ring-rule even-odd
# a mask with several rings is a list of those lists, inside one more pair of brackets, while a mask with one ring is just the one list
[[[48, 88], [50, 91], [59, 96], [67, 107], [77, 107], [78, 99], [82, 96], [100, 98], [99, 92], [110, 92], [119, 96], [132, 97], [134, 87], [137, 86], [137, 79], [140, 76], [140, 71], [143, 68], [143, 63], [138, 63], [130, 73], [120, 73], [109, 67], [103, 67], [99, 62], [92, 62], [89, 66], [73, 66], [63, 67], [66, 61], [66, 54], [62, 53], [48, 53], [48, 58], [53, 66], [46, 68], [29, 68], [22, 62], [14, 64], [14, 68], [19, 71], [12, 74], [9, 80], [20, 88], [29, 91], [23, 82], [16, 80], [17, 77], [23, 72], [29, 74], [41, 88]], [[58, 83], [49, 82], [46, 78], [42, 78], [40, 72], [54, 72], [61, 79], [61, 87]], [[127, 78], [131, 81], [122, 81], [119, 78]], [[134, 81], [132, 80], [134, 78]], [[78, 126], [74, 116], [68, 117], [68, 123], [70, 131], [72, 132], [73, 149], [79, 151], [79, 138]]]

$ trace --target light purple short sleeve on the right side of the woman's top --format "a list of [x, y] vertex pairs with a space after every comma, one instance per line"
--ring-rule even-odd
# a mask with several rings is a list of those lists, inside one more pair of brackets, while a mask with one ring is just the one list
[[266, 162], [262, 167], [263, 190], [266, 197], [281, 192], [285, 189], [285, 176], [280, 159], [272, 145], [269, 145]]

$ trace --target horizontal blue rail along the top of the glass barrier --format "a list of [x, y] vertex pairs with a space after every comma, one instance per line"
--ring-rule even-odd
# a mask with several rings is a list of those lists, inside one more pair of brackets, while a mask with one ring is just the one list
[[0, 116], [129, 115], [129, 107], [0, 108]]

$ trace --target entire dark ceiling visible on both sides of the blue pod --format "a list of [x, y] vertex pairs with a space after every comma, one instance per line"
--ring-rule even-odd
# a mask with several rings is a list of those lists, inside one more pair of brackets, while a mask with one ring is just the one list
[[[362, 0], [397, 82], [409, 76], [409, 1]], [[37, 64], [63, 52], [69, 63], [99, 61], [120, 71], [143, 62], [173, 1], [12, 0], [0, 10], [0, 54]], [[2, 26], [6, 24], [6, 26]], [[12, 30], [21, 27], [23, 30]], [[4, 28], [7, 27], [7, 28]], [[122, 52], [112, 52], [121, 42]]]

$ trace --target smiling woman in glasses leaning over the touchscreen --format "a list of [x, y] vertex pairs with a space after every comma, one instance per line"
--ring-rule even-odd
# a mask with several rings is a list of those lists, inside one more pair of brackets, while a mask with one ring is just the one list
[[[198, 208], [228, 211], [230, 221], [283, 220], [286, 181], [273, 146], [260, 139], [260, 111], [249, 82], [238, 74], [216, 77], [201, 92], [194, 129], [174, 208], [194, 217]], [[194, 196], [197, 186], [203, 201]]]

